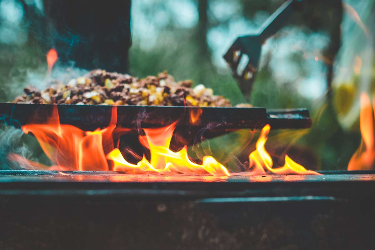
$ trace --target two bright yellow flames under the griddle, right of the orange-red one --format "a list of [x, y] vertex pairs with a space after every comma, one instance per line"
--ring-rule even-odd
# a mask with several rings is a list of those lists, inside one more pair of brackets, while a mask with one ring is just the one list
[[[187, 147], [180, 151], [173, 152], [169, 149], [174, 125], [161, 129], [145, 129], [146, 138], [140, 138], [142, 144], [150, 149], [150, 162], [143, 156], [137, 164], [127, 162], [120, 150], [115, 148], [107, 155], [107, 159], [114, 162], [114, 171], [123, 171], [132, 174], [145, 174], [157, 172], [159, 174], [211, 174], [229, 176], [228, 169], [220, 164], [212, 156], [204, 156], [202, 164], [192, 162], [187, 155]], [[273, 162], [264, 145], [271, 126], [266, 125], [261, 131], [261, 135], [256, 144], [256, 150], [249, 155], [249, 168], [251, 171], [245, 172], [251, 175], [264, 175], [267, 172], [273, 174], [319, 174], [315, 171], [306, 170], [302, 165], [294, 162], [287, 155], [285, 165], [280, 168], [272, 168]], [[146, 140], [147, 142], [145, 142]], [[157, 145], [155, 145], [157, 144]], [[244, 174], [244, 173], [243, 173]]]

